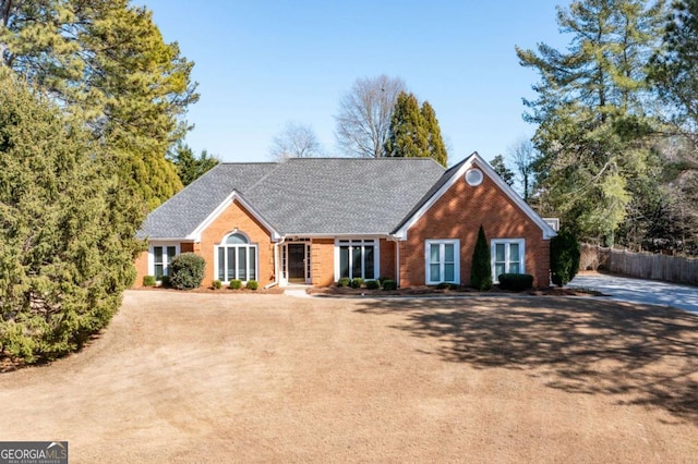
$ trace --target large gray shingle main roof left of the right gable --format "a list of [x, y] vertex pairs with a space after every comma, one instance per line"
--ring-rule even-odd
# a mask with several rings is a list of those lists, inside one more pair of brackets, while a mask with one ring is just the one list
[[140, 236], [184, 237], [233, 190], [281, 234], [387, 234], [443, 175], [431, 158], [221, 163], [153, 211]]

